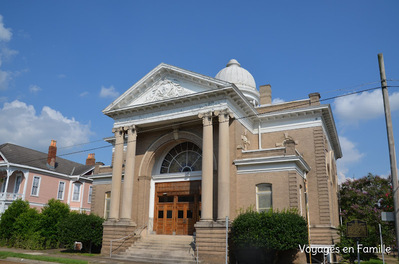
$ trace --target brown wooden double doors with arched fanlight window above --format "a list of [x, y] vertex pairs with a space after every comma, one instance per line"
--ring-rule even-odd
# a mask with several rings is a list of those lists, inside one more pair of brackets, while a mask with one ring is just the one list
[[[201, 218], [202, 150], [192, 142], [173, 146], [161, 159], [155, 183], [154, 231], [159, 235], [193, 235], [194, 224]], [[174, 181], [179, 179], [178, 181]]]

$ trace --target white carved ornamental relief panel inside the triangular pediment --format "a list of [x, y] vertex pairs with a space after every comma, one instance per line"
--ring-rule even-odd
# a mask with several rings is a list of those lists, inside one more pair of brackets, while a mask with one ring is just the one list
[[145, 95], [143, 103], [151, 103], [192, 93], [166, 78], [159, 80], [149, 93]]

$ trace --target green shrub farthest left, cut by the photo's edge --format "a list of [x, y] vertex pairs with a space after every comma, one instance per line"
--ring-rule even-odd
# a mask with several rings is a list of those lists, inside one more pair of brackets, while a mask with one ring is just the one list
[[17, 199], [13, 201], [1, 215], [0, 219], [0, 239], [7, 241], [15, 232], [14, 222], [22, 213], [29, 209], [29, 202]]

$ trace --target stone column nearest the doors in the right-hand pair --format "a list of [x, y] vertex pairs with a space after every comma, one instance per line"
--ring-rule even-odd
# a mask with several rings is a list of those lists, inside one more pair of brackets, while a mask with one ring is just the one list
[[201, 113], [202, 132], [202, 180], [201, 221], [213, 221], [213, 127], [212, 112]]

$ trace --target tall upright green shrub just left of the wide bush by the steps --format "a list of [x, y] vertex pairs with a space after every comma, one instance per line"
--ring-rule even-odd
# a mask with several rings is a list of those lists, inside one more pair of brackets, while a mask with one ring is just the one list
[[41, 210], [40, 229], [46, 238], [46, 248], [59, 247], [58, 228], [69, 215], [69, 205], [59, 200], [50, 199]]

